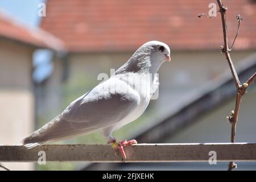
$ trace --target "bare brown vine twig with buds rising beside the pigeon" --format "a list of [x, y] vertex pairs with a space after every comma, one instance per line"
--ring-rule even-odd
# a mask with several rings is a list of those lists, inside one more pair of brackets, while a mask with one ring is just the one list
[[[230, 140], [232, 143], [234, 143], [236, 141], [236, 125], [237, 125], [237, 121], [238, 121], [238, 113], [239, 113], [239, 109], [241, 106], [242, 96], [243, 96], [243, 94], [246, 93], [247, 87], [249, 85], [253, 84], [253, 82], [256, 78], [256, 73], [254, 73], [254, 75], [251, 76], [244, 84], [241, 84], [241, 82], [238, 78], [238, 75], [237, 75], [236, 68], [234, 67], [234, 64], [230, 57], [229, 52], [231, 51], [232, 47], [234, 46], [234, 42], [236, 41], [236, 38], [237, 38], [237, 35], [239, 32], [239, 28], [240, 28], [240, 23], [242, 21], [242, 16], [240, 16], [240, 15], [237, 16], [237, 20], [238, 20], [237, 34], [236, 34], [236, 37], [234, 38], [231, 49], [229, 49], [228, 33], [227, 33], [227, 28], [226, 28], [226, 10], [228, 10], [228, 8], [223, 5], [221, 0], [216, 0], [216, 1], [218, 3], [218, 6], [220, 7], [219, 11], [221, 13], [221, 22], [222, 22], [222, 30], [223, 30], [223, 38], [224, 38], [224, 46], [221, 46], [221, 51], [222, 51], [222, 53], [225, 54], [226, 60], [228, 61], [229, 68], [230, 68], [232, 76], [233, 76], [234, 83], [237, 87], [237, 98], [236, 98], [235, 110], [234, 111], [232, 110], [231, 115], [229, 117], [227, 117], [231, 124], [231, 139]], [[199, 16], [199, 17], [201, 17], [201, 16]], [[233, 168], [237, 168], [237, 164], [234, 162], [230, 162], [228, 170], [230, 171]]]

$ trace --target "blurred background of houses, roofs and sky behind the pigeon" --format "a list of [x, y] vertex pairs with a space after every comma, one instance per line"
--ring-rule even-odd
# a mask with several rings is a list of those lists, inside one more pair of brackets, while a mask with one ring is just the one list
[[[0, 1], [0, 144], [18, 144], [110, 76], [150, 40], [167, 43], [172, 61], [159, 70], [159, 97], [114, 136], [139, 143], [230, 142], [226, 116], [236, 88], [220, 53], [220, 14], [215, 1]], [[243, 16], [232, 59], [241, 82], [256, 71], [256, 1], [224, 0], [231, 45], [237, 14]], [[243, 97], [236, 142], [256, 140], [256, 86]], [[105, 143], [94, 133], [58, 143]], [[228, 163], [5, 163], [10, 169], [227, 169]], [[238, 163], [256, 169], [256, 163]]]

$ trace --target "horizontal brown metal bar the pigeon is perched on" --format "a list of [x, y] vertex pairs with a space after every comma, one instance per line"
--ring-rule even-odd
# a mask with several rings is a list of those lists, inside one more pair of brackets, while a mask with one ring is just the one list
[[[0, 146], [0, 162], [123, 162], [106, 144], [46, 144], [27, 150], [23, 146]], [[208, 162], [215, 151], [218, 162], [256, 161], [256, 143], [134, 144], [125, 147], [125, 162]]]

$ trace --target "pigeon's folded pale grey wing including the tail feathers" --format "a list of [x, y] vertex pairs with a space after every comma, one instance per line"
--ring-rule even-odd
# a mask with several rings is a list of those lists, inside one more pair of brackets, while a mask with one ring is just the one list
[[71, 138], [114, 125], [136, 109], [139, 101], [139, 94], [125, 81], [111, 77], [77, 98], [63, 113], [36, 130], [23, 143], [40, 144]]

